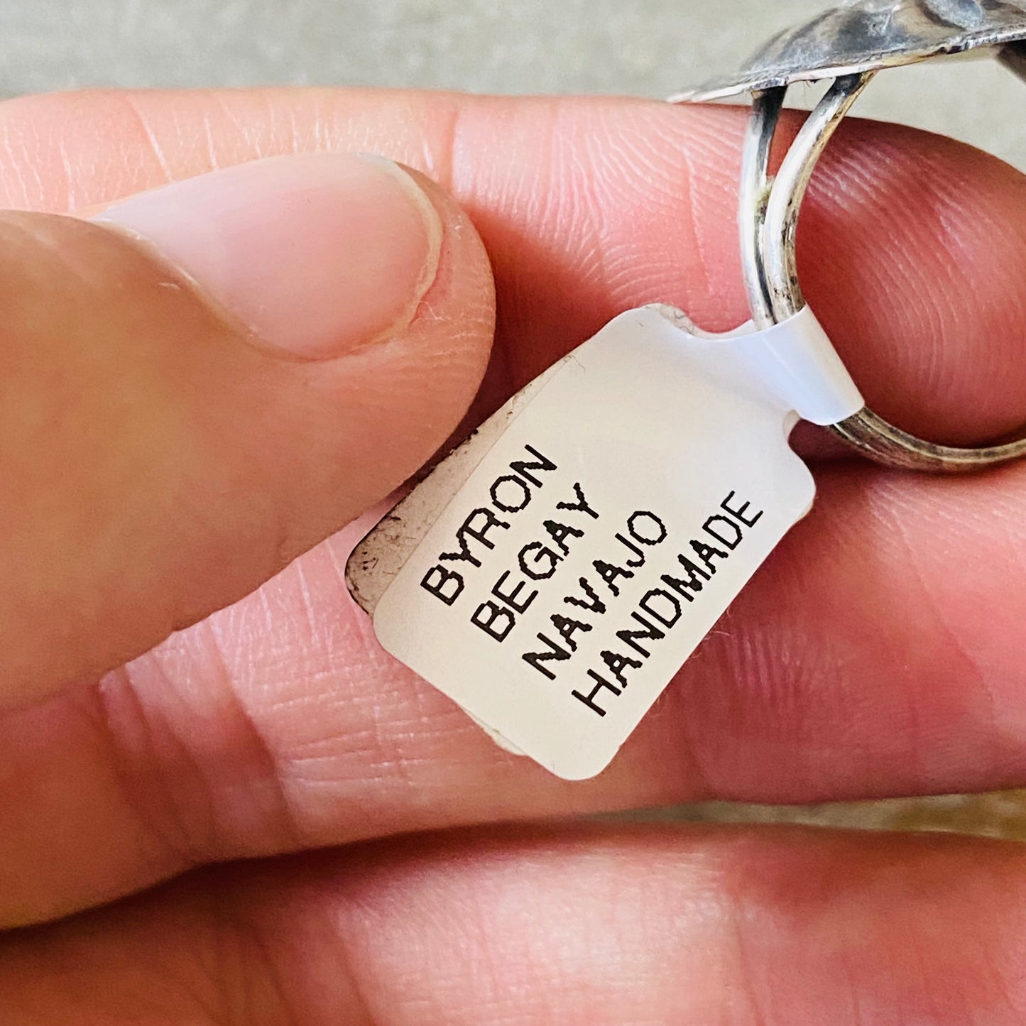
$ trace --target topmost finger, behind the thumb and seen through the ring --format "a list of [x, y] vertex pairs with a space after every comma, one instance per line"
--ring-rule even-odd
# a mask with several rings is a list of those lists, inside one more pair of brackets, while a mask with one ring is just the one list
[[[748, 314], [734, 225], [744, 115], [631, 100], [376, 90], [96, 92], [2, 113], [0, 200], [80, 209], [254, 157], [385, 153], [456, 194], [506, 298], [521, 385], [617, 313]], [[785, 132], [793, 132], [791, 119]], [[1022, 175], [901, 126], [842, 126], [803, 213], [802, 284], [870, 404], [937, 440], [1026, 420]]]

